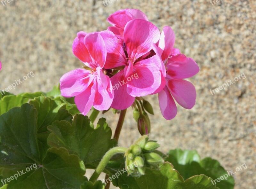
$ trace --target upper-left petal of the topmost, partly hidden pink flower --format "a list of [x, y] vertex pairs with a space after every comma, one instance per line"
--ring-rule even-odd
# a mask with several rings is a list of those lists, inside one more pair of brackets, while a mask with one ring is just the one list
[[126, 23], [132, 20], [132, 15], [125, 10], [120, 10], [111, 14], [107, 20], [113, 26], [124, 28]]

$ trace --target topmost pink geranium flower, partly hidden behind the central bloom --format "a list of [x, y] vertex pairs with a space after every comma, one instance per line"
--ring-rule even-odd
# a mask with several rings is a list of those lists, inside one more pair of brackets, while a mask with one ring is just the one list
[[124, 9], [116, 11], [108, 17], [108, 22], [113, 25], [109, 26], [108, 30], [112, 31], [116, 37], [120, 39], [120, 43], [123, 43], [124, 27], [127, 22], [134, 19], [142, 19], [148, 21], [146, 14], [137, 9]]

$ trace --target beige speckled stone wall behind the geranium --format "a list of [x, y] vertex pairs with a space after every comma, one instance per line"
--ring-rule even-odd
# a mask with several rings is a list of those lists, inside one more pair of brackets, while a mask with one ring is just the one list
[[[166, 121], [156, 95], [146, 98], [155, 105], [152, 139], [161, 150], [196, 149], [201, 157], [220, 161], [226, 170], [243, 163], [247, 169], [235, 175], [236, 189], [256, 185], [256, 1], [209, 0], [134, 1], [119, 0], [104, 6], [102, 1], [44, 0], [11, 1], [0, 4], [0, 89], [30, 72], [35, 74], [15, 90], [49, 91], [60, 77], [83, 64], [72, 54], [78, 31], [100, 31], [107, 17], [120, 9], [145, 12], [159, 29], [169, 25], [175, 32], [175, 47], [196, 60], [200, 72], [189, 81], [197, 90], [192, 110], [178, 106], [177, 116]], [[211, 94], [226, 81], [243, 74], [226, 90]], [[106, 115], [114, 129], [118, 115]], [[129, 146], [139, 134], [129, 109], [119, 145]]]

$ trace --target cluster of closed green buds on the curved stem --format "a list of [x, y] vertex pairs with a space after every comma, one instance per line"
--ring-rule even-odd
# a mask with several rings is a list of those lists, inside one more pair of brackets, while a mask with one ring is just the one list
[[156, 141], [148, 141], [148, 135], [142, 136], [125, 153], [125, 169], [134, 177], [145, 174], [146, 167], [158, 168], [164, 159], [157, 154], [160, 145]]

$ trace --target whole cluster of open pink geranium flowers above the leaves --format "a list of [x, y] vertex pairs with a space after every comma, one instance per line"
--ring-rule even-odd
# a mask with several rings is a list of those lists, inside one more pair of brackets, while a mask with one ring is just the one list
[[195, 87], [184, 79], [196, 75], [199, 67], [173, 47], [171, 27], [165, 26], [160, 33], [136, 9], [117, 11], [108, 22], [112, 26], [107, 31], [77, 33], [73, 53], [85, 69], [61, 77], [62, 96], [75, 97], [84, 115], [92, 106], [97, 110], [123, 110], [134, 103], [135, 97], [157, 93], [167, 120], [177, 114], [174, 99], [187, 109], [195, 105]]

